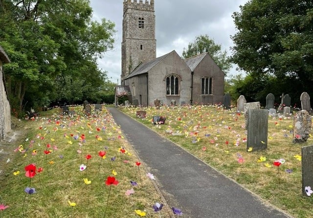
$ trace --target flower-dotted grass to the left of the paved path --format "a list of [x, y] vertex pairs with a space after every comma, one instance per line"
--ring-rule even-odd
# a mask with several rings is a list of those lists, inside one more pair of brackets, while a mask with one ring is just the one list
[[[1, 161], [0, 205], [8, 207], [0, 209], [0, 217], [139, 217], [135, 210], [145, 212], [146, 217], [171, 217], [172, 211], [155, 181], [146, 176], [148, 169], [108, 111], [103, 109], [88, 117], [81, 113], [82, 107], [70, 109], [76, 111], [74, 116], [51, 110], [42, 112], [38, 119], [18, 121], [25, 126], [24, 137], [19, 143], [7, 143], [13, 154]], [[105, 159], [98, 155], [99, 151], [106, 151]], [[141, 165], [138, 167], [136, 162]], [[26, 177], [24, 168], [29, 164], [44, 170], [37, 171], [33, 178]], [[81, 164], [87, 166], [83, 171]], [[106, 185], [108, 176], [114, 176], [118, 185]], [[91, 184], [85, 184], [84, 178]], [[138, 185], [133, 186], [131, 181]], [[36, 193], [27, 194], [26, 187], [34, 187]], [[134, 194], [126, 195], [131, 189]], [[70, 206], [68, 201], [76, 206]], [[160, 214], [152, 208], [156, 202], [165, 204]]]

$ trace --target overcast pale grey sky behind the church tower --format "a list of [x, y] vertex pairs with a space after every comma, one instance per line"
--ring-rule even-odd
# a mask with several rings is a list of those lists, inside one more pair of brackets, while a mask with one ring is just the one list
[[[172, 50], [181, 56], [183, 48], [187, 48], [197, 36], [205, 34], [230, 55], [229, 48], [233, 45], [230, 35], [236, 32], [231, 15], [247, 1], [155, 0], [156, 57]], [[108, 72], [112, 82], [120, 83], [123, 0], [90, 0], [90, 3], [94, 20], [105, 18], [115, 23], [114, 48], [99, 59], [98, 65]], [[235, 67], [230, 73], [236, 73]]]

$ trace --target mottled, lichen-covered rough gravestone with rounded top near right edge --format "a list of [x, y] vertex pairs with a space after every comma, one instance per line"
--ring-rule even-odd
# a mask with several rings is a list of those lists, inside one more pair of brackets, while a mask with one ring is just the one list
[[299, 111], [293, 118], [293, 143], [306, 142], [310, 136], [312, 119], [306, 110]]

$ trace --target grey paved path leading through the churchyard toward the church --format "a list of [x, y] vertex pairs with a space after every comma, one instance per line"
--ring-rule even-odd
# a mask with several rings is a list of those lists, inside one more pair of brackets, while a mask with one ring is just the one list
[[156, 176], [170, 207], [190, 218], [290, 218], [174, 143], [108, 108], [139, 157]]

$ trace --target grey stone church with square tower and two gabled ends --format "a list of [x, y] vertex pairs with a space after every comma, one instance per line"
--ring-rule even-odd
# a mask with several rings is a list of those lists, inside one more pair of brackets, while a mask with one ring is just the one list
[[[173, 50], [156, 58], [154, 0], [123, 0], [121, 85], [134, 106], [223, 102], [224, 72], [208, 53], [182, 59]], [[116, 101], [117, 102], [117, 101]]]

